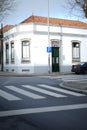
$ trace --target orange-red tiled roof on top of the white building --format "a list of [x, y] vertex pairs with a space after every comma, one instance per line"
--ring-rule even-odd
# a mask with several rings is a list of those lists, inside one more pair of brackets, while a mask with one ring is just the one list
[[[30, 16], [29, 18], [25, 19], [21, 23], [42, 23], [47, 24], [48, 18], [47, 17], [41, 17], [41, 16]], [[76, 20], [67, 20], [67, 19], [59, 19], [59, 18], [49, 18], [49, 23], [53, 25], [61, 24], [63, 26], [74, 26], [74, 27], [84, 27], [87, 28], [87, 23], [76, 21]]]

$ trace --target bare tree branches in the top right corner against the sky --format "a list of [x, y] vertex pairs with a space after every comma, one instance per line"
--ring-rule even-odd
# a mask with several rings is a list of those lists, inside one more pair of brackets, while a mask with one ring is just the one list
[[83, 13], [84, 17], [87, 18], [87, 0], [69, 0], [71, 10], [79, 11], [80, 16]]

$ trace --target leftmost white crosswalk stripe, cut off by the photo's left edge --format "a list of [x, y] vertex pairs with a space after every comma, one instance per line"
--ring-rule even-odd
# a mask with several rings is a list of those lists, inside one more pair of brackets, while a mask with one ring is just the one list
[[9, 93], [7, 93], [7, 92], [5, 92], [3, 90], [0, 90], [0, 96], [3, 97], [3, 98], [5, 98], [6, 100], [9, 100], [9, 101], [21, 100], [21, 98], [16, 97], [16, 96], [14, 96], [12, 94], [9, 94]]

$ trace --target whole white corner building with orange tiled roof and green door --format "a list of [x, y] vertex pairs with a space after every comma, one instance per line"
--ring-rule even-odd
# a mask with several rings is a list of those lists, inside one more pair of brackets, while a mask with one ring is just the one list
[[49, 20], [48, 26], [48, 18], [31, 16], [4, 32], [4, 71], [70, 72], [72, 64], [87, 61], [87, 24]]

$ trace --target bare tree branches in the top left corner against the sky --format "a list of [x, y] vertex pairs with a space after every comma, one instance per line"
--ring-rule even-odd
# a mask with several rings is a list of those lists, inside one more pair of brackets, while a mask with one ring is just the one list
[[14, 9], [15, 0], [0, 0], [0, 20]]

